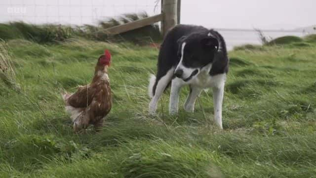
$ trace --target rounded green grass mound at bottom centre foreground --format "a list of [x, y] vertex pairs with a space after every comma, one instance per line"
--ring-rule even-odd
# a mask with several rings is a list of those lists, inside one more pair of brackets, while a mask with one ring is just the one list
[[122, 162], [125, 178], [224, 178], [210, 163], [212, 154], [207, 151], [163, 141], [156, 145], [135, 152]]

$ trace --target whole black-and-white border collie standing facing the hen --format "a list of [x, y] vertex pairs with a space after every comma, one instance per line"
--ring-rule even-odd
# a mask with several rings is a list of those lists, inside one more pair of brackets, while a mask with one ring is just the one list
[[175, 26], [161, 44], [157, 75], [150, 78], [150, 113], [156, 112], [158, 100], [170, 83], [170, 114], [178, 112], [179, 92], [183, 86], [190, 87], [184, 104], [188, 112], [194, 111], [197, 96], [203, 89], [213, 88], [214, 122], [223, 129], [222, 102], [228, 62], [226, 44], [218, 32], [202, 26]]

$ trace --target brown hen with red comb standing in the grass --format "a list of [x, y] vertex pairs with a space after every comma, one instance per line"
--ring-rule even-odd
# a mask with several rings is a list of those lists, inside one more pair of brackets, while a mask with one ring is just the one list
[[66, 103], [65, 109], [71, 114], [74, 122], [74, 131], [94, 125], [96, 131], [103, 125], [103, 118], [111, 111], [112, 98], [108, 68], [111, 63], [111, 54], [105, 50], [95, 67], [91, 84], [79, 86], [73, 94], [62, 94]]

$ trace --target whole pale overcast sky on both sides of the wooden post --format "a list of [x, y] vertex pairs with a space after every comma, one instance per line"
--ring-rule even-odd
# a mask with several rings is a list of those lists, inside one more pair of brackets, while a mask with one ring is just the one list
[[[0, 21], [95, 23], [126, 12], [152, 15], [160, 10], [154, 12], [154, 5], [155, 0], [0, 0]], [[14, 12], [20, 7], [26, 11]], [[316, 0], [182, 0], [181, 23], [237, 29], [311, 26], [316, 25]]]

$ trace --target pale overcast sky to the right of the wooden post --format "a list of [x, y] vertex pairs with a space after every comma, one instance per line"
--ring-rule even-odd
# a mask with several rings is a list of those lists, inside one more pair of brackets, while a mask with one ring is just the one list
[[316, 25], [316, 0], [182, 0], [182, 23], [214, 28]]

